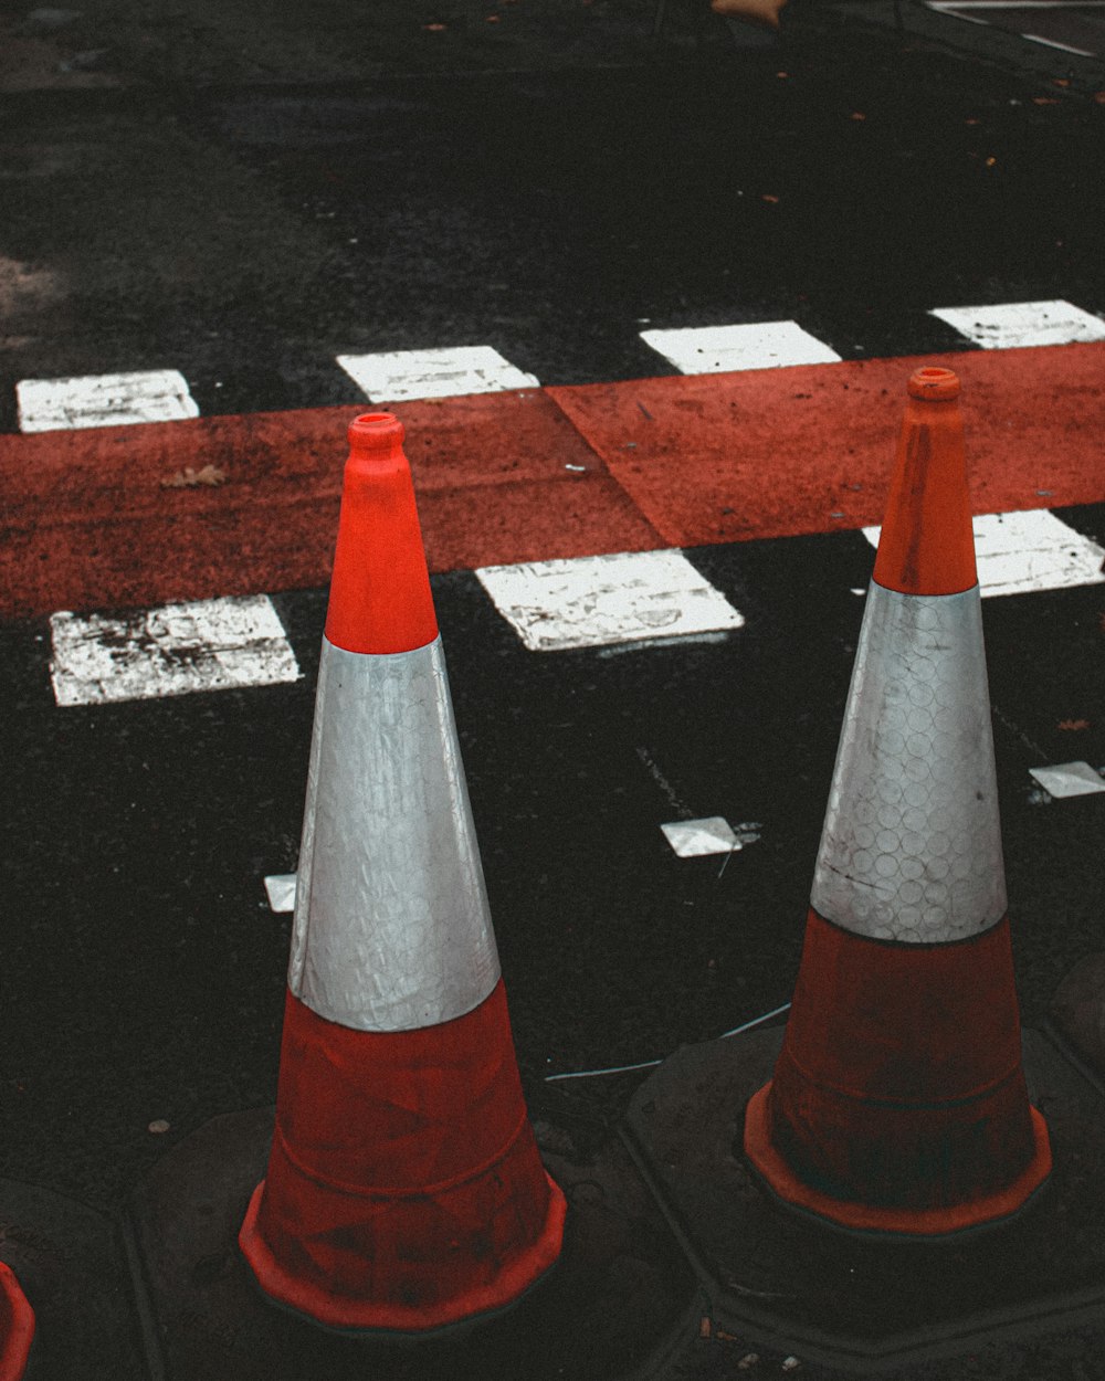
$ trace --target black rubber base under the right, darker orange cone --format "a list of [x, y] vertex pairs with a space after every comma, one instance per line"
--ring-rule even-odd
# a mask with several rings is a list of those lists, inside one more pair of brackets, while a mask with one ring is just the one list
[[[771, 1079], [779, 1029], [680, 1050], [637, 1090], [626, 1139], [706, 1288], [717, 1324], [849, 1373], [1101, 1323], [1105, 1099], [1024, 1032], [1054, 1170], [986, 1230], [903, 1242], [782, 1206], [743, 1159], [744, 1105]], [[1019, 1374], [1019, 1373], [1018, 1373]]]

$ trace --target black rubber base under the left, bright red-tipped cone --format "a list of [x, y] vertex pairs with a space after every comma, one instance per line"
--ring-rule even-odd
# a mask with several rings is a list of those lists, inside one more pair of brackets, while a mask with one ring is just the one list
[[510, 1309], [421, 1340], [333, 1333], [272, 1305], [238, 1250], [272, 1110], [217, 1117], [175, 1146], [127, 1215], [166, 1381], [631, 1381], [698, 1331], [693, 1272], [616, 1134], [535, 1123], [568, 1199], [561, 1259]]

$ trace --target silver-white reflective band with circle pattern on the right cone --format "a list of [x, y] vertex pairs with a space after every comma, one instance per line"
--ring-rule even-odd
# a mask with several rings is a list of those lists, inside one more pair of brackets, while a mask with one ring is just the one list
[[912, 943], [1006, 914], [978, 586], [872, 583], [811, 902], [845, 929]]

